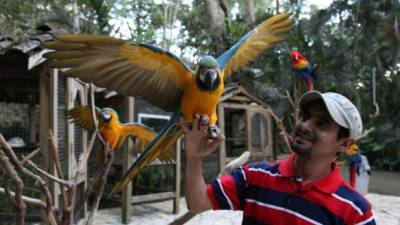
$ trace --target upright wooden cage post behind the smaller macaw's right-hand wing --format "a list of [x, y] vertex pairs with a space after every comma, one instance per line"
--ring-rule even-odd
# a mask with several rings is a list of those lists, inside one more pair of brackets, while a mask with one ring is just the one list
[[[121, 111], [121, 120], [125, 123], [134, 122], [134, 98], [125, 97]], [[133, 163], [130, 151], [133, 148], [133, 142], [128, 138], [122, 148], [123, 151], [123, 168], [122, 174], [125, 174]], [[132, 201], [132, 183], [129, 183], [122, 191], [122, 223], [128, 224], [131, 220], [131, 201]]]

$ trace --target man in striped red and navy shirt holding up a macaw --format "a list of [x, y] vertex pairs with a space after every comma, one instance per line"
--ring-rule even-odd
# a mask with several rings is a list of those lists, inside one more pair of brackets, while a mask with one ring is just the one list
[[251, 163], [206, 185], [203, 158], [224, 140], [207, 137], [197, 116], [183, 121], [185, 194], [190, 211], [243, 210], [242, 224], [375, 224], [371, 205], [340, 175], [335, 159], [362, 133], [357, 108], [337, 93], [305, 93], [292, 136], [294, 153], [277, 163]]

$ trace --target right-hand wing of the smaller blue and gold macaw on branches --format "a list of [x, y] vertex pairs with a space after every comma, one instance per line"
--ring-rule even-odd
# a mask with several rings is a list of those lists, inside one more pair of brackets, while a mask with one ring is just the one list
[[[156, 132], [154, 132], [151, 128], [141, 124], [141, 123], [128, 123], [122, 125], [123, 137], [120, 142], [123, 144], [124, 140], [127, 136], [136, 137], [135, 146], [136, 149], [140, 152], [143, 152], [147, 145], [156, 137]], [[162, 149], [160, 151], [160, 155], [158, 159], [162, 162], [172, 163], [175, 161], [176, 155], [174, 149], [172, 147], [167, 147], [166, 149]]]

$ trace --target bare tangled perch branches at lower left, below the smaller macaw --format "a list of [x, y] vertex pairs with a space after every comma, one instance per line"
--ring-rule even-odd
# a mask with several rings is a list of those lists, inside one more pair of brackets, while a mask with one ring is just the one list
[[[0, 134], [0, 163], [4, 168], [2, 170], [3, 175], [3, 185], [4, 188], [0, 188], [0, 194], [5, 194], [12, 204], [14, 204], [17, 208], [17, 224], [23, 225], [25, 219], [25, 209], [26, 204], [34, 205], [36, 207], [40, 207], [46, 211], [46, 216], [48, 218], [48, 222], [51, 225], [57, 224], [64, 224], [64, 225], [72, 225], [74, 222], [74, 211], [76, 208], [76, 192], [77, 186], [80, 181], [80, 176], [85, 172], [87, 161], [89, 159], [90, 153], [93, 149], [94, 142], [96, 137], [104, 144], [105, 147], [105, 154], [107, 160], [104, 163], [104, 167], [101, 169], [99, 173], [99, 182], [96, 183], [96, 188], [99, 190], [95, 197], [94, 204], [92, 206], [90, 215], [86, 224], [91, 224], [93, 222], [93, 217], [95, 212], [97, 211], [104, 186], [106, 183], [107, 174], [111, 168], [114, 154], [113, 152], [109, 151], [108, 145], [105, 144], [104, 140], [102, 139], [101, 135], [98, 132], [97, 128], [97, 118], [95, 114], [95, 106], [94, 106], [94, 89], [93, 85], [90, 86], [91, 90], [91, 98], [90, 98], [90, 106], [92, 110], [93, 121], [95, 122], [95, 131], [92, 133], [90, 142], [87, 146], [87, 150], [82, 152], [79, 156], [79, 163], [74, 171], [73, 177], [70, 180], [66, 180], [64, 178], [64, 174], [61, 167], [60, 157], [59, 157], [59, 149], [56, 137], [54, 133], [50, 130], [49, 131], [49, 142], [50, 142], [50, 150], [52, 151], [53, 162], [56, 169], [56, 175], [50, 174], [47, 171], [41, 169], [38, 165], [33, 163], [31, 159], [40, 151], [36, 149], [35, 151], [31, 152], [29, 155], [23, 158], [23, 160], [19, 160], [14, 153], [14, 150], [8, 145], [5, 141], [4, 137]], [[63, 218], [58, 218], [57, 211], [54, 207], [53, 199], [51, 197], [50, 191], [46, 182], [38, 175], [32, 173], [24, 166], [26, 164], [31, 165], [38, 173], [42, 176], [47, 177], [49, 181], [55, 182], [60, 184], [60, 191], [61, 191], [61, 198], [63, 204]], [[24, 184], [20, 175], [28, 177], [29, 179], [33, 180], [34, 183], [40, 188], [42, 193], [43, 199], [36, 199], [28, 196], [23, 196], [23, 188]], [[15, 186], [15, 192], [10, 190], [9, 183], [13, 182]], [[84, 199], [86, 201], [87, 199]]]

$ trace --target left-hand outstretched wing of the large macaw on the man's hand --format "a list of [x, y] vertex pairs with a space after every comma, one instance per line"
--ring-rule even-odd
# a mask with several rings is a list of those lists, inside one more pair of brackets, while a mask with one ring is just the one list
[[179, 107], [182, 90], [193, 71], [178, 57], [161, 48], [99, 35], [58, 35], [44, 47], [50, 66], [71, 68], [66, 76], [141, 96], [153, 105], [172, 111]]

